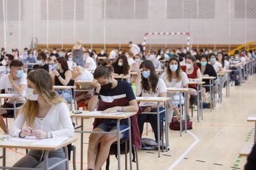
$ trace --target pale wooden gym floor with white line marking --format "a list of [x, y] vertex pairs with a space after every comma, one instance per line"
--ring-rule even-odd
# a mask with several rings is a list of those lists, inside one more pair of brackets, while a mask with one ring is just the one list
[[[203, 120], [197, 123], [194, 116], [193, 129], [183, 136], [179, 131], [169, 132], [169, 152], [139, 151], [140, 169], [243, 169], [246, 158], [239, 158], [239, 151], [247, 137], [253, 140], [254, 123], [247, 123], [249, 115], [256, 114], [256, 76], [251, 76], [242, 86], [232, 86], [231, 96], [223, 103], [217, 103], [215, 110], [203, 110]], [[80, 121], [78, 121], [79, 123]], [[85, 120], [87, 129], [92, 128], [92, 119]], [[248, 136], [248, 134], [252, 134]], [[80, 169], [80, 135], [75, 134], [77, 142], [77, 169]], [[148, 137], [153, 137], [150, 132]], [[87, 167], [88, 135], [84, 137], [84, 167]], [[25, 154], [25, 150], [7, 150], [7, 164], [12, 165]], [[124, 156], [121, 157], [124, 169]], [[135, 163], [133, 164], [135, 169]], [[72, 162], [70, 162], [72, 169]], [[105, 167], [103, 167], [105, 169]], [[111, 156], [110, 169], [117, 169], [117, 161]]]

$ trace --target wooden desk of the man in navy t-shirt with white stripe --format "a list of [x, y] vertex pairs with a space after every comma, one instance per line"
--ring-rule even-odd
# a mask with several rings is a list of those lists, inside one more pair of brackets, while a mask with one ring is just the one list
[[[80, 110], [79, 110], [80, 111]], [[71, 114], [71, 117], [74, 118], [80, 118], [81, 119], [81, 131], [75, 131], [79, 132], [81, 134], [81, 155], [80, 155], [80, 169], [83, 169], [83, 133], [100, 133], [100, 134], [116, 134], [117, 136], [117, 161], [118, 161], [118, 169], [121, 169], [121, 158], [120, 158], [120, 134], [124, 131], [129, 131], [129, 139], [132, 139], [131, 136], [131, 130], [130, 130], [130, 117], [133, 115], [136, 115], [136, 112], [127, 112], [122, 113], [120, 115], [92, 115], [90, 114], [90, 111], [82, 111], [80, 114]], [[102, 118], [102, 119], [117, 119], [117, 132], [97, 132], [97, 131], [83, 131], [83, 119], [84, 118]], [[124, 129], [122, 131], [119, 130], [119, 124], [121, 119], [128, 119], [128, 128]], [[132, 148], [132, 140], [129, 140], [129, 148]], [[132, 169], [132, 152], [129, 152], [130, 155], [130, 169]]]

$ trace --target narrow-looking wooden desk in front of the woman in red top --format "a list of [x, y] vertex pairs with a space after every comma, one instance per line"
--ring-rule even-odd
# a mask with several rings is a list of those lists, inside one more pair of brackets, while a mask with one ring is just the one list
[[205, 81], [194, 82], [190, 81], [189, 85], [197, 85], [197, 121], [199, 122], [199, 118], [202, 115], [203, 119], [203, 101], [202, 101], [202, 85], [205, 84]]

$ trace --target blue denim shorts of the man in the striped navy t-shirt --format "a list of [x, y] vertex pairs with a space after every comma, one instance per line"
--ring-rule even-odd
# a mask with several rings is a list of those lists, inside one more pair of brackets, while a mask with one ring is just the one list
[[[111, 121], [106, 121], [104, 123], [101, 123], [97, 128], [100, 128], [104, 132], [109, 132], [111, 130], [117, 129], [116, 126], [117, 121], [111, 120]], [[122, 131], [128, 127], [127, 124], [119, 124], [119, 130]], [[129, 130], [122, 132], [122, 138], [127, 139], [129, 134]]]

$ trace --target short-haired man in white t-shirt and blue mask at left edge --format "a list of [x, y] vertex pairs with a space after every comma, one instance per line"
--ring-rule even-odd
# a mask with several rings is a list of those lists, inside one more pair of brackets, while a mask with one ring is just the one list
[[[10, 63], [11, 73], [0, 79], [0, 90], [4, 89], [6, 94], [25, 95], [25, 86], [27, 86], [27, 75], [23, 72], [23, 63], [20, 60], [12, 60]], [[16, 100], [16, 107], [20, 107], [25, 99]], [[2, 108], [14, 108], [14, 100], [9, 99]], [[0, 110], [0, 115], [7, 114], [14, 116], [14, 110]], [[6, 133], [8, 129], [3, 119], [0, 119], [0, 127]]]

